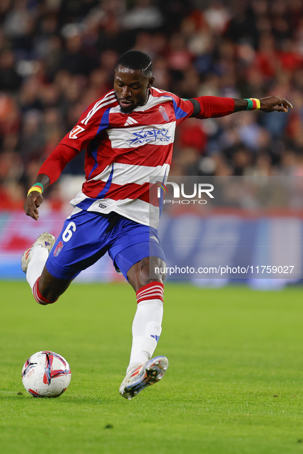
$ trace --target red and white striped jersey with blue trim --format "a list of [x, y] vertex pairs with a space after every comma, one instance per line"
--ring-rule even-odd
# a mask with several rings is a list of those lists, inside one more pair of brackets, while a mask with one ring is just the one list
[[86, 148], [86, 181], [71, 200], [75, 211], [116, 212], [156, 227], [159, 206], [150, 200], [150, 182], [166, 181], [175, 127], [193, 110], [191, 101], [156, 88], [131, 114], [121, 111], [113, 90], [89, 106], [60, 142]]

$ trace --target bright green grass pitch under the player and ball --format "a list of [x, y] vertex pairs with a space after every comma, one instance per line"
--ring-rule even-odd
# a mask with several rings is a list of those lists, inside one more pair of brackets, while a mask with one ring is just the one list
[[[0, 282], [0, 450], [10, 454], [303, 452], [303, 288], [258, 292], [167, 284], [155, 354], [163, 381], [119, 396], [135, 295], [72, 284], [39, 306], [26, 282]], [[28, 395], [24, 361], [49, 349], [72, 379], [57, 399]]]

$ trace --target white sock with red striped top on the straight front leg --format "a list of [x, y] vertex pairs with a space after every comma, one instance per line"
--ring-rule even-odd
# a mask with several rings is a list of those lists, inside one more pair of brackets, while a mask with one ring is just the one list
[[163, 318], [163, 284], [151, 282], [137, 292], [137, 311], [132, 325], [130, 369], [148, 361], [157, 346]]

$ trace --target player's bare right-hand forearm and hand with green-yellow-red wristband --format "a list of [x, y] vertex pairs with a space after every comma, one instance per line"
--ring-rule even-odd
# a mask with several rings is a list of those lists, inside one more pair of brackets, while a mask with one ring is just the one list
[[[256, 109], [260, 109], [263, 112], [287, 112], [288, 108], [292, 109], [290, 102], [285, 98], [280, 98], [279, 96], [268, 96], [260, 99], [234, 99], [234, 101], [234, 112]], [[260, 104], [258, 104], [258, 101]]]

